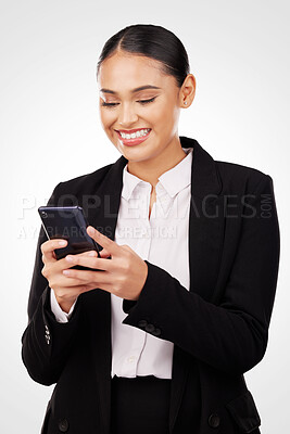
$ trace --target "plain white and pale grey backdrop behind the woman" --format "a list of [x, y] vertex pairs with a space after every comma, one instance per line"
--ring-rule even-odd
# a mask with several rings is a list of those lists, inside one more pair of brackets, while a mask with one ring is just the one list
[[52, 391], [34, 383], [21, 360], [37, 207], [61, 180], [118, 158], [98, 118], [96, 64], [105, 40], [137, 23], [167, 27], [188, 50], [198, 90], [179, 133], [215, 159], [274, 179], [276, 304], [266, 356], [245, 376], [262, 433], [288, 432], [289, 15], [287, 0], [1, 1], [1, 433], [39, 433]]

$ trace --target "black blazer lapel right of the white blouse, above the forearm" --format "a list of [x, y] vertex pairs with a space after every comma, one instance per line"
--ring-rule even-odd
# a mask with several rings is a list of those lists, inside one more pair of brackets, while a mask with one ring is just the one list
[[189, 216], [190, 291], [211, 302], [224, 240], [222, 181], [212, 156], [197, 141], [193, 146]]

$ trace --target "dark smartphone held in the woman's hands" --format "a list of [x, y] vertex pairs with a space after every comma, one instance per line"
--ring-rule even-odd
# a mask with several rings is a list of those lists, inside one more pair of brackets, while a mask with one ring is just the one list
[[[38, 213], [49, 240], [60, 238], [67, 241], [65, 247], [54, 250], [56, 259], [88, 251], [96, 251], [101, 257], [99, 245], [87, 233], [88, 222], [81, 206], [40, 206]], [[91, 270], [83, 266], [71, 268]]]

